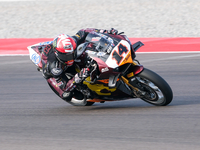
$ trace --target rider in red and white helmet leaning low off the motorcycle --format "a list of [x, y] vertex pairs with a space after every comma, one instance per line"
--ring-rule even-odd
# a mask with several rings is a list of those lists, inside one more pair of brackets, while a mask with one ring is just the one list
[[[83, 56], [81, 62], [75, 62], [77, 47], [84, 43], [90, 32], [114, 35], [118, 33], [114, 28], [111, 30], [87, 28], [79, 30], [74, 36], [60, 34], [53, 40], [52, 44], [45, 47], [42, 54], [42, 59], [46, 60], [42, 61], [43, 76], [47, 79], [52, 90], [59, 93], [58, 95], [63, 100], [70, 101], [73, 96], [76, 99], [82, 99], [81, 94], [74, 88], [94, 71], [93, 60], [87, 55]], [[67, 78], [66, 73], [70, 73], [73, 77]], [[58, 85], [59, 88], [54, 85]]]

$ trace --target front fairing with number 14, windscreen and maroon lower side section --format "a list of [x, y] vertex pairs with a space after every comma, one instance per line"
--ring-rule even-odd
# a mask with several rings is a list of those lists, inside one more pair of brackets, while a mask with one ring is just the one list
[[120, 72], [113, 69], [133, 62], [130, 43], [125, 39], [115, 39], [97, 33], [88, 34], [86, 41], [91, 42], [90, 48], [86, 48], [86, 53], [98, 62], [98, 79], [109, 77], [107, 86], [115, 88]]

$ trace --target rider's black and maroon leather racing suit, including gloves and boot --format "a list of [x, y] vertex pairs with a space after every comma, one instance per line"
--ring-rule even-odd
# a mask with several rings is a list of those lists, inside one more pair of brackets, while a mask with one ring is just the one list
[[[111, 30], [102, 30], [87, 28], [79, 30], [76, 35], [72, 36], [76, 42], [77, 47], [84, 43], [86, 36], [90, 32], [97, 33], [108, 33], [108, 34], [117, 34], [118, 31], [115, 29]], [[76, 49], [77, 49], [76, 47]], [[76, 53], [76, 49], [74, 52]], [[74, 61], [73, 65], [68, 67], [65, 64], [61, 63], [53, 49], [53, 45], [49, 44], [44, 49], [42, 54], [42, 59], [46, 61], [43, 62], [43, 76], [47, 79], [47, 82], [51, 89], [63, 100], [70, 101], [73, 96], [76, 99], [82, 99], [82, 94], [79, 91], [74, 90], [76, 84], [80, 83], [81, 80], [90, 75], [90, 72], [93, 68], [89, 65], [92, 62], [92, 59], [86, 55], [81, 55], [79, 61]]]

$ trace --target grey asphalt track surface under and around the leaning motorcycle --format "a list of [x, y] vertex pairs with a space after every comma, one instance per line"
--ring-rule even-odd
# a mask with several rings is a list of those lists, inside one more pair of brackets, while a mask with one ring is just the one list
[[0, 149], [199, 150], [200, 53], [137, 58], [170, 84], [171, 104], [133, 99], [71, 106], [50, 90], [28, 56], [0, 57]]

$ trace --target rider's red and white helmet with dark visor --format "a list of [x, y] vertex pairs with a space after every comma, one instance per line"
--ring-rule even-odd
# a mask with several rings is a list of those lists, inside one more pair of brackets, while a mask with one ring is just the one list
[[60, 34], [53, 40], [53, 48], [57, 59], [72, 66], [74, 63], [74, 50], [76, 49], [76, 42], [74, 39], [66, 34]]

